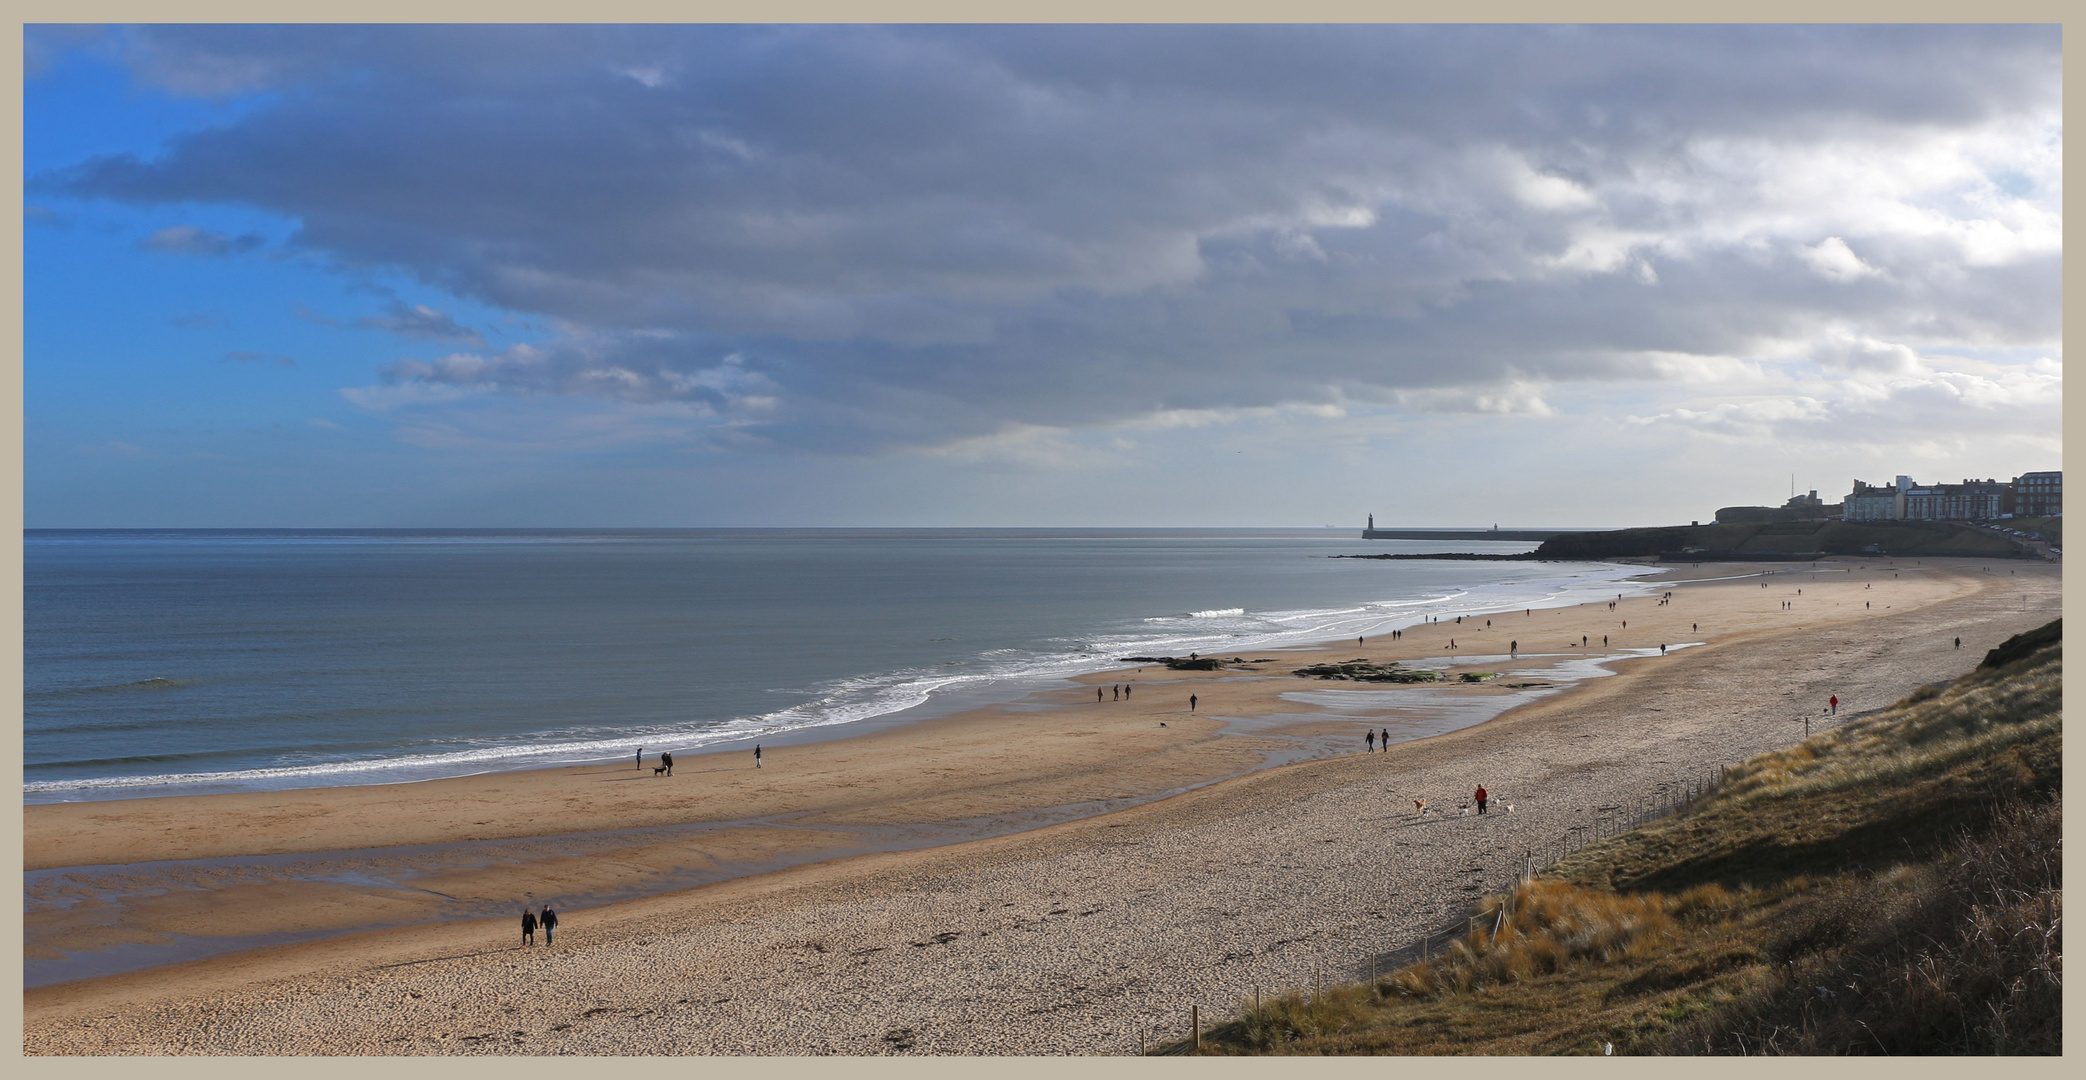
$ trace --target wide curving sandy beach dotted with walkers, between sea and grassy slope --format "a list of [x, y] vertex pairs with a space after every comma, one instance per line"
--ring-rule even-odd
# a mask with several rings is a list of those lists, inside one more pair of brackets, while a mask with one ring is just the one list
[[[1131, 665], [761, 769], [27, 807], [31, 961], [263, 947], [31, 988], [25, 1051], [1135, 1053], [1189, 1005], [1393, 963], [1617, 799], [1959, 676], [2061, 598], [2013, 561], [1660, 578], [1671, 600]], [[1362, 657], [1500, 678], [1291, 676]], [[1371, 755], [1364, 728], [1444, 734]], [[1456, 813], [1479, 782], [1500, 813]], [[522, 951], [542, 901], [559, 940]]]

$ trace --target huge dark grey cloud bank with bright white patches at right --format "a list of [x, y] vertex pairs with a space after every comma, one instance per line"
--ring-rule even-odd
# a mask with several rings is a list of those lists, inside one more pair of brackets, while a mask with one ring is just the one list
[[[173, 92], [280, 96], [38, 190], [294, 217], [342, 265], [565, 327], [388, 379], [686, 400], [730, 440], [1688, 379], [1690, 357], [1848, 323], [2057, 336], [2053, 27], [161, 27], [96, 48]], [[415, 317], [380, 319], [482, 348]], [[1796, 359], [1898, 365], [1871, 352]]]

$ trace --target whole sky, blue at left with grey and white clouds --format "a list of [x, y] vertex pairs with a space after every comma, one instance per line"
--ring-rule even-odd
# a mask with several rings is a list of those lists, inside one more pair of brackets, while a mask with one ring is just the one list
[[2061, 465], [2059, 27], [27, 27], [29, 527]]

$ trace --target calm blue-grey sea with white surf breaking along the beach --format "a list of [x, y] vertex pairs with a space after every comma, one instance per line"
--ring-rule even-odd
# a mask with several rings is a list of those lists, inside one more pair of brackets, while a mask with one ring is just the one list
[[27, 530], [23, 799], [836, 738], [1122, 657], [1640, 594], [1360, 530]]

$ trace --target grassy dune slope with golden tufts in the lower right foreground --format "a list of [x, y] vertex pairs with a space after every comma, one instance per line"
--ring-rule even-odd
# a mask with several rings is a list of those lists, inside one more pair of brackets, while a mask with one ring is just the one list
[[1204, 1053], [2057, 1053], [2063, 653], [2021, 638]]

